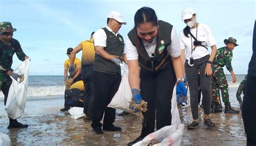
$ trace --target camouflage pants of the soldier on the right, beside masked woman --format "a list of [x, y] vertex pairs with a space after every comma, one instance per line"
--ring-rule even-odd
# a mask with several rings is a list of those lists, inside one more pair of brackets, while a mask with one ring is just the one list
[[227, 79], [224, 74], [223, 68], [214, 64], [212, 68], [212, 101], [218, 102], [218, 97], [220, 96], [219, 91], [221, 91], [222, 100], [224, 103], [228, 103], [230, 101], [228, 95], [228, 84]]

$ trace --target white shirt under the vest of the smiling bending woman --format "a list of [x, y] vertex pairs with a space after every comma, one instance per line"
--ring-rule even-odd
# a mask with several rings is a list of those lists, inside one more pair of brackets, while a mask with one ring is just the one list
[[[125, 44], [127, 60], [138, 60], [139, 58], [138, 50], [135, 46], [133, 46], [129, 37], [127, 38], [128, 39]], [[147, 54], [149, 54], [149, 57], [153, 57], [152, 54], [154, 54], [154, 50], [156, 49], [157, 37], [155, 37], [151, 43], [142, 39], [142, 43], [147, 51]], [[179, 46], [179, 39], [174, 28], [172, 28], [172, 33], [171, 33], [171, 45], [167, 47], [167, 51], [169, 52], [171, 57], [178, 57], [181, 52], [180, 46]]]

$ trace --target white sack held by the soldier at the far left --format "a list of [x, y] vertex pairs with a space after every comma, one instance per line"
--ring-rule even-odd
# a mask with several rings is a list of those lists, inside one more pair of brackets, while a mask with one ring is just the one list
[[28, 92], [29, 63], [30, 59], [26, 59], [21, 65], [18, 66], [17, 69], [14, 70], [15, 73], [24, 75], [23, 82], [19, 83], [11, 77], [12, 83], [5, 105], [5, 111], [11, 119], [21, 118], [21, 116], [24, 114], [26, 95]]

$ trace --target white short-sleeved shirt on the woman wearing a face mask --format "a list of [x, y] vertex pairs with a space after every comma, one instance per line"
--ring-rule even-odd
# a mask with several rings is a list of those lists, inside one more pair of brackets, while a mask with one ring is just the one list
[[[202, 43], [203, 46], [214, 46], [216, 45], [216, 41], [213, 37], [212, 31], [210, 29], [210, 27], [208, 27], [205, 24], [199, 24], [198, 28], [190, 28], [190, 32], [194, 35], [194, 37], [196, 37], [197, 35], [197, 40], [198, 41], [204, 41]], [[179, 43], [180, 43], [180, 48], [181, 49], [185, 49], [185, 59], [189, 60], [190, 56], [191, 56], [191, 48], [194, 48], [193, 42], [194, 39], [190, 36], [190, 34], [188, 34], [187, 38], [184, 33], [183, 30], [180, 32], [179, 34]], [[192, 41], [191, 41], [192, 38]], [[207, 50], [205, 47], [202, 46], [197, 46], [192, 53], [193, 59], [201, 59], [202, 57], [206, 56], [210, 54], [209, 50]]]

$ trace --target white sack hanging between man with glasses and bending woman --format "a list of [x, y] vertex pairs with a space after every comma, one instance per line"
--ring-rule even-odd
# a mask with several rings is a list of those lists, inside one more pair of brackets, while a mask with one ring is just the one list
[[135, 114], [129, 108], [129, 101], [131, 101], [132, 99], [132, 92], [131, 92], [131, 88], [128, 80], [128, 74], [129, 74], [128, 65], [120, 64], [120, 67], [124, 70], [122, 81], [119, 85], [118, 91], [116, 92], [116, 94], [114, 94], [114, 97], [112, 98], [108, 106], [112, 108], [119, 108], [125, 112]]

